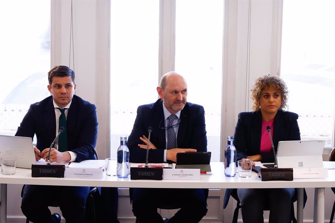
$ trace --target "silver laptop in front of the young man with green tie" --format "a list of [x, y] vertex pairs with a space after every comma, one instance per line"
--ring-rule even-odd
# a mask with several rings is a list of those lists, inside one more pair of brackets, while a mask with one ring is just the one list
[[16, 167], [31, 169], [32, 164], [36, 163], [32, 138], [0, 135], [0, 158], [2, 157], [16, 157]]

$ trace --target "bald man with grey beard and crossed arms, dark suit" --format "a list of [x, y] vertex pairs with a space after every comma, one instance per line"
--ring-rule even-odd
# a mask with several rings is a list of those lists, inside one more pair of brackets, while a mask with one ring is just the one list
[[[132, 133], [128, 138], [130, 161], [146, 160], [148, 128], [152, 127], [148, 161], [175, 162], [177, 153], [207, 151], [204, 110], [200, 105], [186, 103], [187, 85], [175, 73], [165, 74], [157, 87], [155, 103], [137, 109]], [[132, 190], [133, 212], [140, 223], [197, 223], [207, 213], [208, 190], [143, 189]], [[178, 205], [181, 209], [163, 221], [157, 212], [160, 204]]]

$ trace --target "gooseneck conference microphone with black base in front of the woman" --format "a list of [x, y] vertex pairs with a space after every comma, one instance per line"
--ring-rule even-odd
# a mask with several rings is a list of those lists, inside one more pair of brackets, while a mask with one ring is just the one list
[[292, 168], [278, 168], [277, 156], [274, 151], [273, 140], [271, 136], [271, 127], [267, 126], [268, 136], [271, 141], [272, 153], [274, 157], [274, 168], [260, 168], [258, 176], [261, 177], [262, 181], [269, 180], [293, 180], [293, 169]]

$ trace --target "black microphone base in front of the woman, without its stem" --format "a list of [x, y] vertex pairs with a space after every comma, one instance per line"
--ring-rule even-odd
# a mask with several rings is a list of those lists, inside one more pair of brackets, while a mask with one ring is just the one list
[[269, 180], [293, 180], [293, 169], [292, 168], [261, 168], [258, 172], [258, 176], [261, 177], [262, 181]]

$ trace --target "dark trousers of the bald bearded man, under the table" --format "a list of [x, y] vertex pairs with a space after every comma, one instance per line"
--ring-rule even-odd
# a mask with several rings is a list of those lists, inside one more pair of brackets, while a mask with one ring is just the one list
[[198, 223], [207, 213], [207, 195], [204, 189], [132, 189], [133, 213], [139, 223], [163, 223], [157, 208], [179, 206], [181, 209], [169, 223]]

